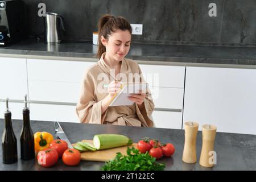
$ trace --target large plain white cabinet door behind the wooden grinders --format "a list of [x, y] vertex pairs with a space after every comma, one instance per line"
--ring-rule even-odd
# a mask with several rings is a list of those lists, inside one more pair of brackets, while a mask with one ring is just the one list
[[256, 134], [255, 93], [256, 69], [187, 67], [183, 123]]

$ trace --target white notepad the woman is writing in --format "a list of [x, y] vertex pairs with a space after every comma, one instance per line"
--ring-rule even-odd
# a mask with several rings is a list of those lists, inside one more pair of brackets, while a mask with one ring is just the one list
[[134, 104], [134, 101], [128, 99], [128, 96], [132, 93], [139, 93], [141, 90], [146, 93], [148, 84], [143, 83], [123, 83], [121, 89], [115, 94], [110, 101], [109, 106], [130, 106]]

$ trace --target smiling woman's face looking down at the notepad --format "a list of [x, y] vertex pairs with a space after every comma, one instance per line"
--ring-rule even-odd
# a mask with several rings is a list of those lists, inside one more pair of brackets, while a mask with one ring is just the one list
[[117, 30], [109, 35], [108, 40], [101, 38], [106, 47], [106, 55], [115, 61], [121, 61], [127, 55], [131, 44], [131, 34], [128, 30]]

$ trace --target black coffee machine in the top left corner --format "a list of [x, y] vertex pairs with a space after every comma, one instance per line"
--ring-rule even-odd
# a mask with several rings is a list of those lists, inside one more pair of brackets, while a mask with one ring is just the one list
[[26, 5], [23, 1], [0, 0], [0, 46], [27, 38]]

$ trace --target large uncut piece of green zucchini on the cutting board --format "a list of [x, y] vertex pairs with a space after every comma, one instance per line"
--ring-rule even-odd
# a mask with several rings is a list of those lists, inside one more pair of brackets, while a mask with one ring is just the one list
[[93, 145], [97, 150], [128, 146], [130, 144], [133, 144], [133, 140], [126, 137], [125, 135], [98, 134], [98, 135], [94, 135], [93, 137]]

